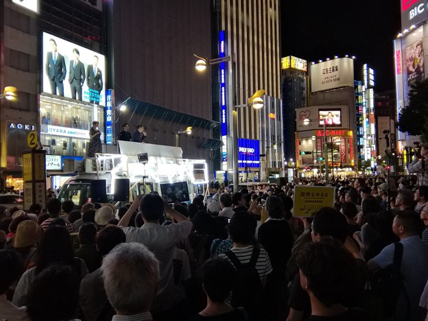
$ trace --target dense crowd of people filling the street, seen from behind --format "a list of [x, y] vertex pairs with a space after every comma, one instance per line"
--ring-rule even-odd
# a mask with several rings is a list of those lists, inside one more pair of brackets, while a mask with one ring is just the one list
[[428, 187], [332, 185], [335, 206], [311, 217], [293, 216], [292, 184], [0, 206], [0, 320], [425, 320]]

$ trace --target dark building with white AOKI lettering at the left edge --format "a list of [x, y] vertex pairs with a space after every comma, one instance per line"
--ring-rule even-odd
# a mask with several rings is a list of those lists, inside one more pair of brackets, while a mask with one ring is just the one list
[[[22, 151], [27, 134], [38, 130], [38, 16], [12, 3], [0, 1], [0, 91], [17, 88], [18, 99], [0, 99], [1, 187], [5, 178], [21, 176]], [[8, 185], [21, 189], [21, 182]]]

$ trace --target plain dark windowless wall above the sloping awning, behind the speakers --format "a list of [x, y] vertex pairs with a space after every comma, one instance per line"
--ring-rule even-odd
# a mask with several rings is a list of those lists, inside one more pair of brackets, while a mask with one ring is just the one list
[[211, 53], [210, 1], [115, 1], [116, 102], [133, 97], [211, 119], [211, 71], [193, 53]]

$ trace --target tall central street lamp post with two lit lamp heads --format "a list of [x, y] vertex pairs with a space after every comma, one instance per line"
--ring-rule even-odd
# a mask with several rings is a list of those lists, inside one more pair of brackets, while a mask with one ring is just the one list
[[[245, 108], [248, 106], [252, 106], [255, 109], [263, 108], [263, 99], [261, 99], [261, 96], [264, 95], [264, 90], [259, 90], [252, 97], [248, 99], [247, 104], [242, 105], [235, 105], [235, 67], [232, 61], [232, 56], [224, 56], [220, 58], [215, 59], [208, 59], [208, 58], [202, 58], [198, 55], [193, 54], [196, 58], [199, 58], [199, 60], [195, 64], [195, 69], [198, 71], [204, 71], [207, 66], [210, 66], [212, 64], [221, 64], [223, 62], [229, 62], [229, 80], [230, 80], [230, 89], [228, 91], [228, 108], [226, 108], [226, 114], [225, 117], [228, 119], [228, 123], [232, 123], [232, 126], [228, 126], [226, 132], [222, 132], [222, 136], [226, 136], [226, 140], [228, 141], [228, 144], [226, 144], [228, 147], [230, 146], [230, 149], [232, 152], [228, 151], [228, 170], [233, 171], [233, 191], [237, 192], [239, 191], [239, 165], [238, 165], [238, 112], [237, 108]], [[224, 75], [222, 75], [224, 77]], [[229, 161], [230, 160], [230, 161]]]

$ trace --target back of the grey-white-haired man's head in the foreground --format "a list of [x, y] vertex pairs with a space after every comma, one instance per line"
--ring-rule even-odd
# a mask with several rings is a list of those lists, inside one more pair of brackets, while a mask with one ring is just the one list
[[159, 262], [141, 243], [121, 243], [104, 257], [104, 287], [116, 311], [112, 321], [152, 321], [150, 307], [159, 281]]

